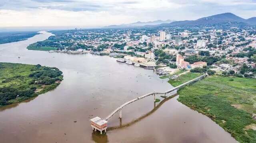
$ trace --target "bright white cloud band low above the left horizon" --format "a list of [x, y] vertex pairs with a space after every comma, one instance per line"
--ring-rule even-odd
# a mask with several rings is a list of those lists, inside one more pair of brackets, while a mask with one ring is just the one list
[[131, 22], [134, 17], [109, 12], [37, 9], [32, 11], [0, 10], [0, 27], [14, 26], [104, 26]]

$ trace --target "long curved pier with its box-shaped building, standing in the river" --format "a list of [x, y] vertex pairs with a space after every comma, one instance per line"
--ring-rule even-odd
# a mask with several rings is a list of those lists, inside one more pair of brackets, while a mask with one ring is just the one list
[[[154, 96], [154, 102], [155, 102], [155, 101], [156, 101], [155, 96], [156, 96], [157, 94], [164, 94], [165, 96], [168, 95], [168, 94], [172, 94], [172, 92], [174, 92], [174, 91], [177, 92], [177, 91], [179, 90], [179, 88], [182, 88], [182, 87], [184, 87], [184, 86], [186, 86], [186, 85], [188, 85], [188, 84], [191, 84], [191, 83], [193, 83], [193, 82], [196, 82], [196, 81], [198, 81], [198, 80], [201, 80], [201, 79], [204, 78], [205, 76], [206, 76], [206, 74], [204, 74], [204, 75], [202, 75], [202, 76], [199, 76], [199, 77], [197, 77], [197, 78], [194, 78], [194, 79], [192, 79], [192, 80], [189, 80], [188, 82], [185, 82], [185, 83], [183, 83], [183, 84], [180, 84], [179, 86], [176, 86], [176, 87], [174, 87], [174, 88], [172, 88], [172, 89], [170, 89], [170, 90], [167, 90], [166, 92], [151, 92], [151, 93], [148, 93], [148, 94], [144, 94], [144, 95], [142, 95], [142, 96], [139, 96], [138, 98], [135, 98], [135, 99], [133, 99], [133, 100], [130, 100], [130, 101], [128, 101], [128, 102], [122, 104], [121, 106], [119, 106], [118, 108], [116, 108], [116, 110], [114, 110], [113, 112], [111, 112], [111, 113], [110, 113], [106, 118], [104, 118], [104, 119], [101, 119], [101, 118], [99, 118], [99, 117], [96, 117], [96, 118], [91, 119], [91, 120], [90, 120], [90, 121], [91, 121], [91, 125], [92, 125], [92, 127], [94, 127], [95, 131], [96, 131], [96, 129], [97, 129], [97, 130], [99, 130], [101, 133], [102, 133], [102, 130], [105, 130], [105, 132], [106, 132], [106, 129], [105, 129], [105, 128], [107, 128], [107, 122], [108, 122], [108, 120], [109, 120], [112, 116], [114, 116], [117, 112], [119, 112], [119, 118], [122, 119], [122, 108], [124, 108], [125, 106], [131, 104], [132, 102], [135, 102], [135, 101], [140, 100], [140, 99], [142, 99], [142, 98], [145, 98], [145, 97], [147, 97], [147, 96]], [[171, 96], [171, 95], [170, 95], [170, 96]], [[97, 126], [96, 126], [97, 121], [94, 122], [94, 120], [97, 120], [97, 121], [98, 121], [98, 120], [104, 121], [104, 123], [106, 124], [106, 126], [104, 126], [105, 128], [104, 128], [104, 129], [103, 129], [103, 128], [102, 128], [102, 129], [97, 128]]]

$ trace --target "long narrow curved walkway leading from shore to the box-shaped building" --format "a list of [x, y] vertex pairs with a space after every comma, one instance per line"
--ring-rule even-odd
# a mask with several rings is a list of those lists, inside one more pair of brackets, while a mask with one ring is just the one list
[[145, 98], [145, 97], [147, 97], [147, 96], [154, 95], [154, 94], [168, 94], [168, 93], [170, 93], [170, 92], [173, 92], [174, 90], [177, 90], [177, 89], [179, 89], [179, 88], [182, 88], [183, 86], [186, 86], [187, 84], [190, 84], [190, 83], [192, 83], [192, 82], [194, 82], [194, 81], [200, 80], [201, 78], [204, 78], [205, 76], [206, 76], [206, 74], [204, 74], [204, 75], [202, 75], [202, 76], [199, 76], [199, 77], [197, 77], [197, 78], [194, 78], [194, 79], [192, 79], [192, 80], [189, 80], [188, 82], [185, 82], [185, 83], [183, 83], [183, 84], [180, 84], [179, 86], [176, 86], [176, 87], [174, 87], [174, 88], [172, 88], [172, 89], [170, 89], [170, 90], [167, 90], [166, 92], [151, 92], [151, 93], [142, 95], [142, 96], [140, 96], [140, 97], [138, 97], [138, 98], [135, 98], [135, 99], [133, 99], [133, 100], [130, 100], [130, 101], [128, 101], [128, 102], [122, 104], [122, 105], [119, 106], [118, 108], [116, 108], [116, 110], [114, 110], [110, 115], [108, 115], [108, 117], [106, 117], [105, 120], [107, 121], [107, 120], [110, 119], [112, 116], [114, 116], [114, 114], [116, 114], [116, 112], [118, 112], [119, 110], [121, 110], [124, 106], [126, 106], [126, 105], [128, 105], [128, 104], [130, 104], [130, 103], [132, 103], [132, 102], [134, 102], [134, 101], [140, 100], [140, 99], [142, 99], [142, 98]]

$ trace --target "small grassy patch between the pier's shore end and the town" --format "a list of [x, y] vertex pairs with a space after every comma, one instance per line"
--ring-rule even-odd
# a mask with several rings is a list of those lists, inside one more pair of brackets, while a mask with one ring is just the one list
[[172, 84], [172, 86], [175, 87], [175, 86], [178, 86], [178, 85], [180, 85], [182, 83], [185, 83], [185, 82], [187, 82], [189, 80], [192, 80], [192, 79], [194, 79], [194, 78], [196, 78], [196, 77], [198, 77], [200, 75], [202, 75], [202, 74], [201, 73], [196, 73], [196, 72], [188, 72], [186, 74], [180, 75], [176, 79], [170, 79], [168, 82], [170, 84]]

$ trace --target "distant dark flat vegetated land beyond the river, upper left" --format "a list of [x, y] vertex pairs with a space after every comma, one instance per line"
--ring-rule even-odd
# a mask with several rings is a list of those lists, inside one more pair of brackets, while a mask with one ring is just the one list
[[0, 32], [0, 44], [18, 42], [26, 40], [34, 35], [37, 35], [37, 32]]

